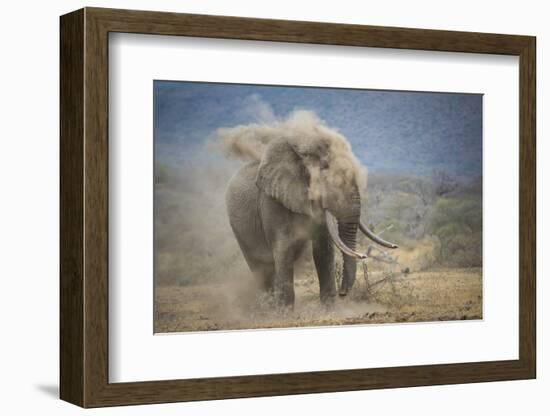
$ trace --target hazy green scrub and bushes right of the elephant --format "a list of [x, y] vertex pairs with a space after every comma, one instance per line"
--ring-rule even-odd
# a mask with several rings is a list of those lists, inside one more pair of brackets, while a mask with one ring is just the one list
[[[363, 218], [396, 241], [404, 259], [421, 268], [482, 265], [481, 178], [462, 180], [371, 175]], [[437, 242], [425, 244], [427, 241]], [[411, 264], [412, 264], [411, 263]]]

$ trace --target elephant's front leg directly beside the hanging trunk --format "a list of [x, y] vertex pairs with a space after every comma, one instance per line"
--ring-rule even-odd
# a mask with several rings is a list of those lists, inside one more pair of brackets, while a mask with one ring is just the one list
[[319, 278], [321, 302], [334, 303], [336, 281], [334, 276], [334, 247], [329, 239], [326, 227], [320, 227], [312, 240], [313, 261]]

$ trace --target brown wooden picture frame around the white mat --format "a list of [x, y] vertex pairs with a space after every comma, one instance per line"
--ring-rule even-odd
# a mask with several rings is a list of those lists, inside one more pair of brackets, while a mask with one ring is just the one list
[[[100, 8], [64, 15], [60, 28], [61, 399], [101, 407], [535, 378], [534, 37]], [[519, 359], [109, 383], [110, 32], [519, 56]]]

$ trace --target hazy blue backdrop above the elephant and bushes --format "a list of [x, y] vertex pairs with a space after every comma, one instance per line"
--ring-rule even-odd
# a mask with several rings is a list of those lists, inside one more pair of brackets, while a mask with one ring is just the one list
[[[482, 95], [154, 81], [156, 162], [202, 157], [221, 127], [315, 112], [351, 143], [369, 172], [482, 173]], [[208, 155], [208, 156], [206, 156]]]

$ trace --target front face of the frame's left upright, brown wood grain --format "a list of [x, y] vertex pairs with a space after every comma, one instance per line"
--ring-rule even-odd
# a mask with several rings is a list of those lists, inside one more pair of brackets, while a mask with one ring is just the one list
[[88, 406], [108, 380], [108, 33], [86, 12], [84, 126], [84, 331]]

